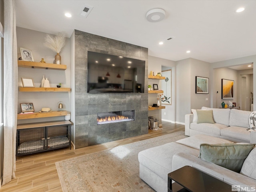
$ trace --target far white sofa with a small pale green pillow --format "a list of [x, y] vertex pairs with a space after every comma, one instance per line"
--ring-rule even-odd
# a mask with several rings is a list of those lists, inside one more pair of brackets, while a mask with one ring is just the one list
[[192, 110], [193, 114], [185, 115], [185, 135], [204, 134], [233, 142], [256, 143], [256, 130], [247, 130], [250, 111], [207, 107], [202, 107], [202, 110], [212, 110], [215, 123], [197, 123], [196, 110]]

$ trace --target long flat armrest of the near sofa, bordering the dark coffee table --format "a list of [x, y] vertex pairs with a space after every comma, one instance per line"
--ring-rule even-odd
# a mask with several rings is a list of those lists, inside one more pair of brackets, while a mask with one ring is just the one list
[[172, 171], [182, 168], [183, 166], [186, 166], [186, 165], [192, 166], [230, 185], [255, 186], [255, 183], [256, 183], [256, 180], [252, 178], [249, 178], [242, 174], [228, 170], [216, 164], [204, 161], [190, 154], [181, 152], [173, 156]]

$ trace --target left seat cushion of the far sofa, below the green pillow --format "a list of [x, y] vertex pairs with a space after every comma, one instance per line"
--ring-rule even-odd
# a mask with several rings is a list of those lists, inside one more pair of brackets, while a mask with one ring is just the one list
[[190, 124], [190, 129], [192, 130], [197, 130], [197, 131], [201, 131], [201, 132], [206, 132], [206, 133], [210, 133], [210, 134], [215, 134], [215, 135], [220, 135], [220, 130], [227, 128], [226, 125], [223, 124], [212, 124], [212, 123], [191, 123]]

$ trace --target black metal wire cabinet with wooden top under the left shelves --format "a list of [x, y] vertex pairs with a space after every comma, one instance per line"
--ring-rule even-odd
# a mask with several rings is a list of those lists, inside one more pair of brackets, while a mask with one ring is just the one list
[[70, 147], [70, 121], [17, 125], [16, 156]]

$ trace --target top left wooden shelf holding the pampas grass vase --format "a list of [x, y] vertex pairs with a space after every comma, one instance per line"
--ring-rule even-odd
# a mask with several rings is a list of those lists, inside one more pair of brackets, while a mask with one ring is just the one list
[[21, 61], [21, 60], [18, 60], [18, 67], [54, 69], [54, 70], [66, 70], [67, 69], [66, 65], [40, 63], [40, 62], [33, 62], [33, 61]]

